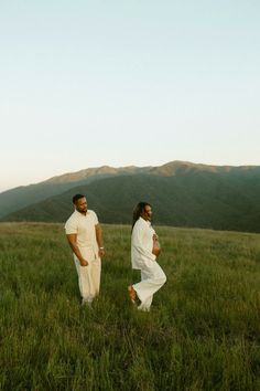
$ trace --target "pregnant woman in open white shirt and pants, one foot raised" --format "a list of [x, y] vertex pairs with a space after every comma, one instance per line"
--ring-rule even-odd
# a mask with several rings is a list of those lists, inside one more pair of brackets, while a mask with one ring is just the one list
[[139, 202], [133, 211], [131, 236], [132, 268], [141, 271], [141, 282], [128, 287], [129, 297], [141, 304], [138, 309], [149, 311], [153, 294], [166, 282], [166, 276], [156, 262], [161, 249], [158, 235], [151, 225], [152, 207], [148, 202]]

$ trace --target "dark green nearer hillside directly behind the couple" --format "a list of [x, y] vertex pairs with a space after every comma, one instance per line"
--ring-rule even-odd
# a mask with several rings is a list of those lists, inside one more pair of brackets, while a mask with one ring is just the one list
[[64, 222], [72, 197], [87, 196], [101, 222], [131, 223], [133, 205], [152, 203], [156, 224], [260, 232], [260, 169], [196, 170], [175, 175], [127, 175], [77, 186], [11, 213], [2, 221]]

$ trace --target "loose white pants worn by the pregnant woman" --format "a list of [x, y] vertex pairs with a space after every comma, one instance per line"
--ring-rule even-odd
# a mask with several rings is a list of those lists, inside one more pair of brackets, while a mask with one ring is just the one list
[[150, 310], [153, 294], [158, 292], [165, 282], [166, 276], [156, 261], [151, 262], [149, 265], [143, 265], [141, 270], [141, 282], [132, 286], [141, 300], [139, 309]]

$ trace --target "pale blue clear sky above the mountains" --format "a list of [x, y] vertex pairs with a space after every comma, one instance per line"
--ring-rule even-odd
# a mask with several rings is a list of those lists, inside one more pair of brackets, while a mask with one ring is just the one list
[[1, 0], [0, 191], [104, 165], [260, 166], [259, 0]]

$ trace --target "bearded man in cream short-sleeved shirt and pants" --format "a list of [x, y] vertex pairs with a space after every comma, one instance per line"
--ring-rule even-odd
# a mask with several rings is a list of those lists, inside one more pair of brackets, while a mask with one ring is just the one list
[[91, 305], [99, 294], [101, 260], [105, 254], [102, 231], [94, 211], [87, 209], [83, 194], [73, 197], [74, 213], [65, 224], [66, 236], [73, 250], [83, 304]]

